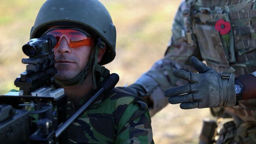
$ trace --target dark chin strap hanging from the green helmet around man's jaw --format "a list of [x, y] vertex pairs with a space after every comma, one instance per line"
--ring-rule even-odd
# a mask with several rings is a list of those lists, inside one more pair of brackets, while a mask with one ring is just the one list
[[89, 70], [91, 68], [93, 68], [92, 82], [93, 82], [93, 89], [96, 89], [97, 88], [96, 77], [100, 76], [100, 77], [106, 78], [109, 75], [109, 70], [107, 68], [105, 68], [101, 65], [98, 65], [99, 50], [103, 49], [104, 47], [105, 47], [105, 43], [100, 40], [100, 37], [98, 37], [97, 44], [95, 46], [93, 53], [90, 56], [90, 59], [89, 59], [89, 62], [87, 64], [86, 68], [84, 70], [82, 70], [82, 72], [80, 72], [80, 74], [78, 74], [73, 79], [60, 80], [60, 79], [55, 78], [55, 82], [58, 85], [62, 85], [62, 86], [72, 86], [72, 85], [76, 85], [76, 84], [82, 85]]

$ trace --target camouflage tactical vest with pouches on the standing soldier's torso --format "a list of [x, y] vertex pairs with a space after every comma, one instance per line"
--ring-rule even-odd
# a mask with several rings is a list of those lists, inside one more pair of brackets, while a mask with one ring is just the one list
[[[256, 71], [255, 0], [187, 0], [183, 16], [188, 43], [198, 45], [208, 66], [218, 72], [231, 66], [236, 76]], [[231, 25], [227, 34], [215, 28], [220, 19]], [[256, 122], [256, 99], [241, 100], [226, 110]]]

